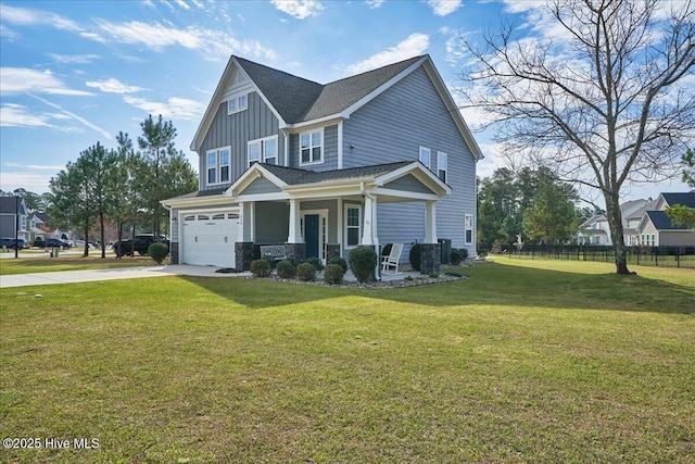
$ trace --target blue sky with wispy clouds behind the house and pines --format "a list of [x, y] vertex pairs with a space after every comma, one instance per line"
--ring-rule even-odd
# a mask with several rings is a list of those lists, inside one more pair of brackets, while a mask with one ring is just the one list
[[[456, 99], [460, 36], [529, 21], [531, 1], [2, 1], [0, 189], [37, 193], [97, 141], [162, 114], [189, 145], [231, 54], [327, 83], [429, 53]], [[475, 112], [464, 112], [476, 126]], [[476, 136], [485, 176], [504, 163]], [[685, 191], [680, 183], [624, 198]]]

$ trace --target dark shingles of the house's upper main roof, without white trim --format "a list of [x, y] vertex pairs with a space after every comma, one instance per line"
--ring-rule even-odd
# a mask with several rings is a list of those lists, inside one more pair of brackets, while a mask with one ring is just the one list
[[409, 60], [321, 85], [236, 57], [286, 123], [301, 123], [340, 113], [420, 60]]

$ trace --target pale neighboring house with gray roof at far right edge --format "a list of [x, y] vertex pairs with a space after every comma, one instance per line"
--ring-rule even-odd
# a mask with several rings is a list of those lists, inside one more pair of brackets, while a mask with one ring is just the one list
[[695, 191], [686, 193], [661, 193], [649, 211], [645, 211], [637, 225], [640, 244], [660, 246], [695, 246], [695, 229], [675, 226], [666, 214], [666, 209], [675, 204], [695, 208]]

